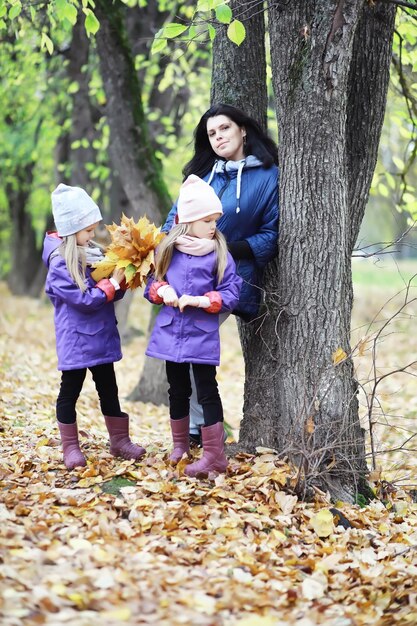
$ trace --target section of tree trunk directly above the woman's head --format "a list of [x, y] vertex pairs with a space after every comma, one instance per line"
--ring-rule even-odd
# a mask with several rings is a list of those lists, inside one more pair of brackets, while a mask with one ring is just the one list
[[213, 41], [211, 102], [224, 102], [242, 109], [267, 127], [265, 16], [252, 0], [231, 0], [233, 17], [246, 28], [240, 46], [227, 37], [227, 25], [216, 22]]

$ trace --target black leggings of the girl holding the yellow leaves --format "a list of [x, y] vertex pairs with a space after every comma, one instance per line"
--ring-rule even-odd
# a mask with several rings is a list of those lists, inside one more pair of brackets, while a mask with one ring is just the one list
[[[93, 375], [103, 415], [121, 417], [119, 391], [113, 363], [88, 368]], [[77, 419], [75, 405], [83, 388], [87, 368], [62, 372], [61, 387], [56, 401], [56, 416], [63, 424], [73, 424]]]

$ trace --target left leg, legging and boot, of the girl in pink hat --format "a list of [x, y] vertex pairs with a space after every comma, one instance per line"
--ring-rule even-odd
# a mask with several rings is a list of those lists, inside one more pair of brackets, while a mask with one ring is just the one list
[[190, 449], [190, 365], [189, 363], [166, 362], [169, 384], [169, 414], [174, 449], [169, 457], [171, 463], [178, 463]]

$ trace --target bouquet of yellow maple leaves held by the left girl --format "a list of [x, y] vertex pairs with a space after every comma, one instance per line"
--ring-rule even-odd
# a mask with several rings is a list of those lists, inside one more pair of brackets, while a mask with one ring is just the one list
[[120, 225], [106, 226], [111, 243], [104, 259], [95, 263], [92, 272], [95, 281], [108, 278], [116, 268], [124, 269], [130, 289], [141, 287], [150, 271], [155, 269], [154, 250], [165, 237], [161, 229], [151, 224], [146, 216], [138, 222], [122, 214]]

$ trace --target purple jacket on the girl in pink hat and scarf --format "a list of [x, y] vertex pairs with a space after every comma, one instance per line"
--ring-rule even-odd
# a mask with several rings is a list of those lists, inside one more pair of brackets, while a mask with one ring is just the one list
[[[218, 313], [205, 309], [186, 307], [183, 313], [178, 307], [162, 306], [155, 320], [146, 354], [175, 363], [206, 363], [219, 365], [220, 336], [219, 313], [232, 312], [239, 301], [242, 279], [236, 274], [236, 265], [230, 253], [223, 280], [218, 285], [215, 270], [216, 253], [192, 256], [174, 250], [166, 274], [167, 282], [178, 295], [203, 296], [217, 291], [222, 300]], [[150, 302], [151, 279], [144, 296]]]

